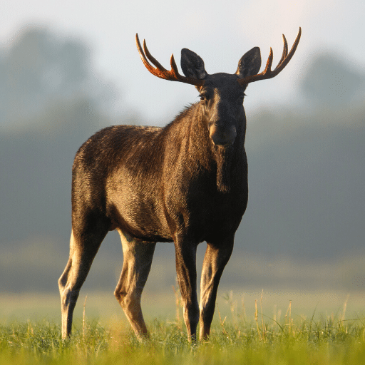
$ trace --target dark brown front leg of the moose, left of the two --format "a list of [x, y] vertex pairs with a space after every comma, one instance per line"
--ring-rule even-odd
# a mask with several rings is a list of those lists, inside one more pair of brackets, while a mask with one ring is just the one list
[[187, 339], [196, 340], [199, 322], [199, 304], [197, 303], [197, 246], [186, 242], [175, 242], [176, 273], [183, 298], [184, 321]]

